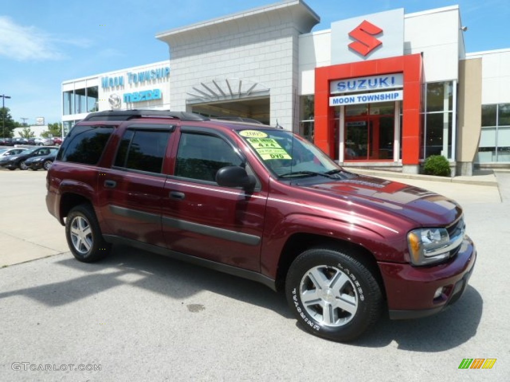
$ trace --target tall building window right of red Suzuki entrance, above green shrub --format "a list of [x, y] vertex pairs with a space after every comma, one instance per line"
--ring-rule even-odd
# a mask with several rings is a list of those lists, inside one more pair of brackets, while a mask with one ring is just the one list
[[454, 118], [453, 82], [428, 83], [424, 87], [423, 147], [421, 158], [443, 155], [454, 160], [452, 133]]

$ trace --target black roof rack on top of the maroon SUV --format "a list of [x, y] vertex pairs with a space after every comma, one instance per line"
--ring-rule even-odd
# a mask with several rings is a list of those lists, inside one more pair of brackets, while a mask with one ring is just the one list
[[109, 110], [90, 113], [83, 121], [127, 121], [139, 117], [175, 118], [181, 121], [208, 121], [209, 118], [195, 113], [170, 112], [169, 110]]

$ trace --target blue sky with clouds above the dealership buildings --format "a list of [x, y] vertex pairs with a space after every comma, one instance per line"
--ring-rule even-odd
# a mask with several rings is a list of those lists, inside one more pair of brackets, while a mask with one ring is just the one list
[[[458, 5], [467, 52], [510, 48], [508, 0], [304, 0], [331, 22], [404, 8], [405, 13]], [[0, 95], [13, 119], [61, 121], [64, 80], [169, 59], [155, 35], [277, 0], [0, 0]]]

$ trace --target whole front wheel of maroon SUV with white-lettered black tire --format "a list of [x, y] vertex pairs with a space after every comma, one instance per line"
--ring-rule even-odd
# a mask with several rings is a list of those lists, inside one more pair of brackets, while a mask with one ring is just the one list
[[348, 252], [332, 249], [300, 254], [289, 268], [285, 292], [305, 330], [333, 341], [361, 336], [382, 310], [379, 284], [370, 270]]

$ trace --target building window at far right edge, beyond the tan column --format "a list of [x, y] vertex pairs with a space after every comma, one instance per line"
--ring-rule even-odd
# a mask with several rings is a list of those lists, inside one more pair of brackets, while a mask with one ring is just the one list
[[478, 163], [510, 162], [510, 103], [481, 106]]

